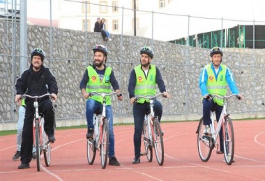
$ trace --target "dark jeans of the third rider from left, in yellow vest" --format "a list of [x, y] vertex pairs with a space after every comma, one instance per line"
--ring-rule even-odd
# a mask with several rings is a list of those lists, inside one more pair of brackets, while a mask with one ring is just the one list
[[[145, 102], [144, 104], [133, 104], [133, 118], [135, 121], [135, 134], [133, 135], [133, 143], [135, 145], [135, 157], [141, 156], [141, 137], [146, 109], [150, 109], [149, 102]], [[155, 116], [158, 116], [158, 120], [160, 121], [162, 116], [162, 104], [158, 100], [154, 102], [153, 111], [155, 111]]]

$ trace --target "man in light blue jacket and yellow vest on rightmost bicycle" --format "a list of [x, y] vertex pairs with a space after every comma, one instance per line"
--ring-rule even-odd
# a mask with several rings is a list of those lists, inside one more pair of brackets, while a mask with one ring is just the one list
[[[222, 113], [223, 100], [214, 97], [211, 99], [209, 95], [218, 94], [225, 96], [227, 93], [227, 84], [233, 94], [239, 96], [242, 99], [243, 96], [239, 94], [239, 90], [236, 87], [232, 72], [226, 65], [222, 64], [222, 49], [220, 47], [213, 47], [210, 52], [211, 63], [206, 65], [202, 70], [199, 77], [199, 88], [201, 90], [203, 100], [203, 121], [205, 125], [204, 134], [211, 134], [211, 110], [215, 109], [216, 120], [218, 121]], [[222, 140], [222, 128], [220, 129], [220, 151], [224, 152], [224, 145]]]

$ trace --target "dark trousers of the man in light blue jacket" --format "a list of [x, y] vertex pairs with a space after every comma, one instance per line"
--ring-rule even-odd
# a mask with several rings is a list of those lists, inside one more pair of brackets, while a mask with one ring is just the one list
[[[215, 116], [217, 122], [219, 122], [219, 118], [222, 113], [222, 106], [219, 106], [213, 100], [202, 100], [202, 112], [203, 112], [203, 120], [204, 125], [210, 125], [211, 124], [211, 110], [215, 109]], [[223, 145], [223, 139], [222, 139], [222, 127], [220, 129], [219, 133], [219, 140], [220, 140], [220, 151], [224, 152], [224, 145]]]

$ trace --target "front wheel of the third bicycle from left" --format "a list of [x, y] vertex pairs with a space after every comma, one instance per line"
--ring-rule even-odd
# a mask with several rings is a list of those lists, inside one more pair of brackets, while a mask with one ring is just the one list
[[153, 118], [153, 148], [156, 152], [158, 164], [162, 166], [164, 163], [164, 143], [162, 130], [158, 118]]

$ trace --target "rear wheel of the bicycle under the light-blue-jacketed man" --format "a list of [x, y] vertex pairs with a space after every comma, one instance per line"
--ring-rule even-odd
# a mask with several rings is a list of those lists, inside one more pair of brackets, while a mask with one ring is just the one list
[[204, 135], [204, 121], [199, 121], [198, 135], [197, 135], [197, 146], [199, 157], [202, 162], [207, 162], [211, 157], [211, 136]]

